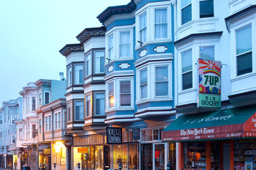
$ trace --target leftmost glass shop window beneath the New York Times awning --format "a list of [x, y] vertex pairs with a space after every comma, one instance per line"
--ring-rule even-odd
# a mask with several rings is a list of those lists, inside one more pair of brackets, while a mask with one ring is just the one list
[[206, 169], [206, 143], [184, 143], [184, 168]]

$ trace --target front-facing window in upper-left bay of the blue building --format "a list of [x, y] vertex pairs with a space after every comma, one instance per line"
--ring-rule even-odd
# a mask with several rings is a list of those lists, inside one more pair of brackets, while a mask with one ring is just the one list
[[130, 31], [120, 32], [120, 43], [119, 43], [120, 57], [131, 56], [131, 39]]

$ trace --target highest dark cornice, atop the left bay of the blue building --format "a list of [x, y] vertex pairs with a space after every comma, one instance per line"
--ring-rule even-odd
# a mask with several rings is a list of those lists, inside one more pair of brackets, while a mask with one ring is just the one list
[[136, 4], [134, 1], [131, 1], [126, 5], [109, 6], [106, 10], [100, 13], [97, 18], [102, 24], [104, 24], [104, 22], [106, 22], [106, 20], [111, 18], [113, 15], [132, 13], [134, 10], [136, 10]]

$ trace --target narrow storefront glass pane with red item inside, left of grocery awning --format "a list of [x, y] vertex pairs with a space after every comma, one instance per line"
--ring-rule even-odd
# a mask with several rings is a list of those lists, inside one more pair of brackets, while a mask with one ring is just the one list
[[155, 170], [164, 170], [164, 145], [155, 145]]

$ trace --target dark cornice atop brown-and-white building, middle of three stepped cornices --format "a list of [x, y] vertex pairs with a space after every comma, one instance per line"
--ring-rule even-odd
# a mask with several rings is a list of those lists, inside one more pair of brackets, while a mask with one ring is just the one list
[[80, 34], [76, 36], [80, 43], [84, 43], [86, 40], [92, 37], [105, 36], [106, 27], [92, 27], [84, 29]]

